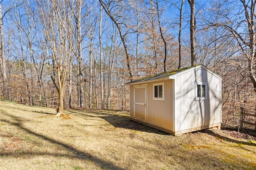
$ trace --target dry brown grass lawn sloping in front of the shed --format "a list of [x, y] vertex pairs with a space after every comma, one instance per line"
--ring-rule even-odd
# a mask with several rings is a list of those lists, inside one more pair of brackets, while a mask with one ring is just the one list
[[0, 169], [256, 169], [256, 142], [218, 130], [178, 137], [126, 111], [65, 111], [0, 102]]

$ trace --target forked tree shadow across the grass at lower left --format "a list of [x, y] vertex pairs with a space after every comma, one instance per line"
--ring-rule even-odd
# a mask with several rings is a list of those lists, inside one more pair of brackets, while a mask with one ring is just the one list
[[[48, 141], [50, 143], [53, 143], [55, 145], [59, 145], [60, 147], [63, 147], [64, 149], [69, 150], [70, 152], [72, 152], [72, 155], [62, 155], [62, 154], [51, 154], [51, 153], [30, 153], [30, 152], [20, 152], [20, 155], [24, 155], [24, 156], [31, 156], [31, 155], [54, 155], [54, 156], [67, 156], [70, 158], [78, 158], [81, 160], [90, 160], [92, 162], [94, 162], [96, 165], [98, 165], [100, 167], [100, 169], [116, 169], [116, 170], [124, 170], [124, 168], [120, 168], [116, 165], [114, 165], [112, 162], [106, 161], [106, 160], [102, 160], [100, 158], [97, 158], [96, 156], [91, 155], [90, 153], [86, 153], [86, 152], [82, 152], [68, 144], [56, 141], [55, 139], [46, 137], [44, 135], [41, 135], [39, 133], [36, 133], [30, 129], [27, 129], [26, 127], [22, 126], [22, 120], [19, 117], [16, 117], [14, 115], [10, 115], [7, 114], [12, 120], [14, 120], [14, 122], [11, 122], [9, 120], [6, 119], [0, 119], [3, 122], [6, 122], [10, 125], [14, 125], [16, 127], [18, 127], [19, 129], [22, 129], [23, 131], [26, 131], [26, 133], [29, 133], [31, 135], [34, 135], [36, 137], [39, 137], [45, 141]], [[17, 153], [14, 152], [10, 152], [10, 153], [0, 153], [0, 156], [17, 156]]]

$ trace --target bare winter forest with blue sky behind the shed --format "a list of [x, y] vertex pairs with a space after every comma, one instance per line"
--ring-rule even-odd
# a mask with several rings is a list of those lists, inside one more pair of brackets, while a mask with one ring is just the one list
[[223, 113], [252, 113], [255, 4], [1, 0], [1, 100], [128, 110], [127, 82], [204, 64], [222, 77]]

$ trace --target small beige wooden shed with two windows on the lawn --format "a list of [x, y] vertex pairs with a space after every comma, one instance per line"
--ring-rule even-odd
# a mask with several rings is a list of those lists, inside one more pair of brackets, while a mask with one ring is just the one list
[[130, 119], [173, 135], [220, 129], [221, 82], [204, 65], [129, 82]]

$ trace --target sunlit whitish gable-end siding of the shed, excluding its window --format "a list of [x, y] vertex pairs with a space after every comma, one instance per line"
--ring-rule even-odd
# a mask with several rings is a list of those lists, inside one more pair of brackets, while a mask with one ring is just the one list
[[[195, 82], [207, 82], [207, 100], [196, 100]], [[203, 68], [176, 76], [175, 131], [221, 122], [220, 83]]]

